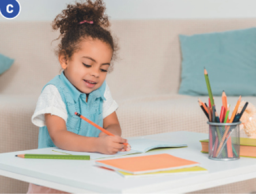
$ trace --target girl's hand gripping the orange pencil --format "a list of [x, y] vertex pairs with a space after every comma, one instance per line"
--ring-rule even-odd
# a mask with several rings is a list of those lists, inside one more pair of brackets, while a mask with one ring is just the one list
[[123, 139], [122, 137], [115, 135], [104, 135], [99, 134], [99, 141], [97, 143], [97, 152], [103, 153], [103, 154], [115, 154], [126, 146], [123, 143], [127, 143], [127, 139]]

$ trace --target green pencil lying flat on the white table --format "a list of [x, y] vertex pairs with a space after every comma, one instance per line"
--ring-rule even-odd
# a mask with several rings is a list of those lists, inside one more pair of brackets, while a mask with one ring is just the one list
[[89, 155], [19, 154], [15, 156], [20, 158], [31, 158], [31, 159], [90, 160]]

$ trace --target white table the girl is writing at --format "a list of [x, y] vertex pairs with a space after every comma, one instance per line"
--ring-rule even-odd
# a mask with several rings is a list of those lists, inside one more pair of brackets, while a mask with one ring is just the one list
[[35, 149], [0, 154], [0, 175], [71, 193], [184, 193], [256, 177], [254, 158], [214, 161], [208, 159], [208, 154], [201, 153], [199, 140], [207, 139], [208, 134], [176, 131], [147, 135], [145, 138], [186, 143], [188, 147], [144, 155], [169, 153], [197, 161], [209, 172], [125, 179], [111, 170], [97, 167], [94, 160], [39, 160], [15, 157], [16, 154], [44, 152], [44, 149]]

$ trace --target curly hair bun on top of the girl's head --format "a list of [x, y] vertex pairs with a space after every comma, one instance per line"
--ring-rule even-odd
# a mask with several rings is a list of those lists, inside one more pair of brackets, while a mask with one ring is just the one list
[[[52, 22], [54, 30], [60, 29], [61, 34], [65, 34], [70, 28], [77, 28], [79, 23], [86, 21], [93, 21], [93, 24], [99, 25], [102, 28], [108, 28], [110, 22], [108, 16], [104, 14], [106, 10], [105, 4], [101, 0], [96, 0], [94, 3], [91, 0], [86, 2], [76, 2], [74, 5], [67, 5], [67, 9], [62, 10]], [[84, 25], [82, 24], [82, 25]]]

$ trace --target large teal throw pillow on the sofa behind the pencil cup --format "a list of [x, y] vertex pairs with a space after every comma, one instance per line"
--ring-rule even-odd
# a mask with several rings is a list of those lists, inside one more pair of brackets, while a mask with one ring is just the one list
[[208, 95], [204, 67], [213, 95], [256, 95], [256, 28], [179, 35], [182, 75], [179, 94]]

